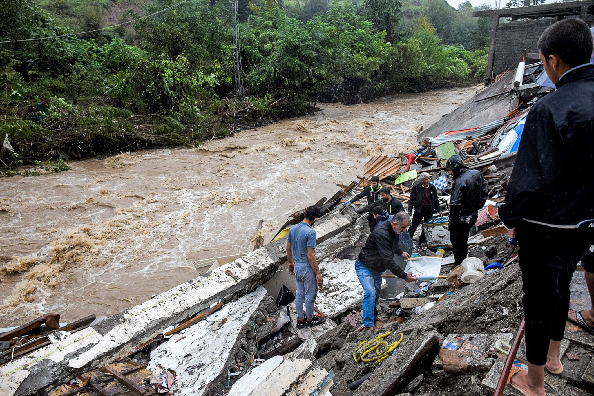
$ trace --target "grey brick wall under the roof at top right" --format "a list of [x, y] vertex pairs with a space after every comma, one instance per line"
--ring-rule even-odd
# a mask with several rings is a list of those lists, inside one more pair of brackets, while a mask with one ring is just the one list
[[[557, 18], [545, 18], [530, 21], [513, 21], [500, 24], [495, 33], [495, 75], [506, 71], [508, 68], [515, 69], [518, 62], [522, 61], [520, 56], [522, 50], [533, 46], [527, 53], [538, 53], [539, 37], [545, 29], [557, 22]], [[537, 62], [536, 59], [528, 60], [527, 63]]]

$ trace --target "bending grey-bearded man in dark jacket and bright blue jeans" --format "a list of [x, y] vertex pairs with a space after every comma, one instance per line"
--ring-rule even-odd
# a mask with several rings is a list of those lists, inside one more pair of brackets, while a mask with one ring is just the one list
[[379, 223], [371, 232], [365, 246], [355, 261], [355, 271], [363, 286], [363, 327], [372, 330], [377, 318], [377, 300], [381, 293], [381, 274], [390, 270], [394, 275], [407, 282], [415, 281], [412, 273], [405, 273], [394, 261], [394, 255], [410, 258], [398, 246], [399, 235], [406, 231], [410, 216], [402, 211], [394, 214], [390, 221]]

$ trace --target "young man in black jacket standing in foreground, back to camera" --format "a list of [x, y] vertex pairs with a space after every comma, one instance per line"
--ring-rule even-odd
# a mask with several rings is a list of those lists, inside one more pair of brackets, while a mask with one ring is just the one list
[[545, 394], [545, 368], [563, 371], [560, 345], [570, 281], [594, 235], [594, 65], [592, 34], [574, 18], [549, 26], [538, 40], [557, 90], [532, 106], [499, 216], [520, 245], [528, 371], [511, 384]]

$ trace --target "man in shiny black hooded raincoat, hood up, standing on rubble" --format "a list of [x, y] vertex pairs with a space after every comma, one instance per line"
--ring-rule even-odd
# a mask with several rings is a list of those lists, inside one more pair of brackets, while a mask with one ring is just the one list
[[459, 265], [468, 255], [468, 233], [476, 223], [476, 213], [485, 205], [488, 189], [482, 173], [466, 167], [459, 156], [451, 156], [445, 167], [454, 176], [449, 227], [454, 264]]

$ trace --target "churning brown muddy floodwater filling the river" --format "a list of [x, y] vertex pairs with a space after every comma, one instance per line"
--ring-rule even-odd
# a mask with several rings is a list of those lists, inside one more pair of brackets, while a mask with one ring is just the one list
[[0, 178], [0, 327], [41, 313], [113, 315], [196, 277], [197, 259], [253, 249], [287, 218], [362, 175], [378, 154], [409, 153], [475, 87], [403, 94], [208, 142], [75, 161]]

